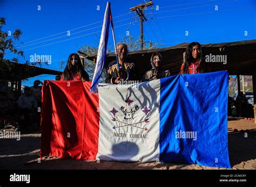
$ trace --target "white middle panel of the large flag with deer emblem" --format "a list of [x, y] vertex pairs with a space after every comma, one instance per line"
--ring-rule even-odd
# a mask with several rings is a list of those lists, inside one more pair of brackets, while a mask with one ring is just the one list
[[[130, 106], [125, 102], [128, 97], [133, 100]], [[99, 87], [99, 143], [96, 158], [107, 161], [150, 162], [158, 160], [159, 103], [159, 80], [129, 86], [101, 84]], [[134, 112], [133, 119], [125, 120], [121, 107], [126, 106], [126, 111], [130, 112], [131, 109], [133, 111], [136, 109], [136, 105], [139, 109]], [[147, 114], [143, 112], [145, 106], [151, 110]], [[118, 111], [115, 115], [110, 112], [113, 107]], [[113, 121], [112, 117], [118, 121]], [[145, 119], [148, 119], [149, 123], [146, 123]], [[139, 123], [141, 121], [143, 122]], [[133, 126], [127, 124], [133, 124]], [[116, 129], [113, 129], [114, 126]], [[135, 138], [136, 134], [141, 137]]]

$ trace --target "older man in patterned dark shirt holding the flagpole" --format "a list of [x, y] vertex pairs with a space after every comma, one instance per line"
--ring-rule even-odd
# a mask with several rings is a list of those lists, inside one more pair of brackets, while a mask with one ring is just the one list
[[135, 64], [127, 58], [127, 45], [120, 43], [117, 45], [118, 63], [117, 61], [110, 62], [106, 70], [106, 83], [119, 84], [122, 81], [139, 81], [138, 74], [135, 70]]

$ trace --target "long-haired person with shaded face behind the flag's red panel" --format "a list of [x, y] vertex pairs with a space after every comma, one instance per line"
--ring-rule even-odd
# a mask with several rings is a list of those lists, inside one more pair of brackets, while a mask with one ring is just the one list
[[89, 75], [83, 68], [80, 57], [76, 53], [69, 55], [68, 62], [60, 78], [61, 81], [89, 81]]

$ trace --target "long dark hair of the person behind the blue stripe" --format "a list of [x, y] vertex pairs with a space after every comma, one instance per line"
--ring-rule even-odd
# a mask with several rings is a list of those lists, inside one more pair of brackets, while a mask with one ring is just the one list
[[199, 56], [197, 71], [198, 73], [204, 73], [205, 71], [205, 61], [204, 61], [204, 56], [202, 52], [202, 46], [198, 42], [194, 41], [190, 43], [190, 45], [188, 45], [186, 48], [185, 57], [184, 57], [184, 66], [183, 66], [183, 69], [181, 69], [181, 73], [183, 74], [188, 74], [188, 66], [193, 61], [192, 49], [194, 46], [198, 46], [200, 49], [200, 56]]

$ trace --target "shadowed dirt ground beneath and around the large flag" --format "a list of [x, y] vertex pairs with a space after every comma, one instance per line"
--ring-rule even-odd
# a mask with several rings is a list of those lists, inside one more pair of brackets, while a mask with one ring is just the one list
[[[237, 129], [238, 132], [233, 132]], [[244, 130], [244, 131], [241, 131]], [[244, 137], [247, 132], [248, 137]], [[0, 169], [225, 169], [197, 164], [68, 160], [43, 157], [39, 161], [41, 134], [21, 134], [21, 140], [0, 139]], [[228, 149], [232, 169], [256, 169], [256, 124], [253, 120], [228, 120]]]

